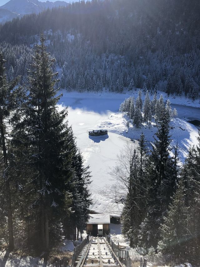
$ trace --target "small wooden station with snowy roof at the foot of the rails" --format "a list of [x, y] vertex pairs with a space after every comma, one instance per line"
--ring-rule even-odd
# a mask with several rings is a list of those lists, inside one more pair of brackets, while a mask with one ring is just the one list
[[90, 214], [89, 221], [87, 223], [87, 234], [91, 234], [93, 236], [97, 236], [98, 232], [102, 235], [109, 234], [110, 231], [110, 215], [107, 214]]

